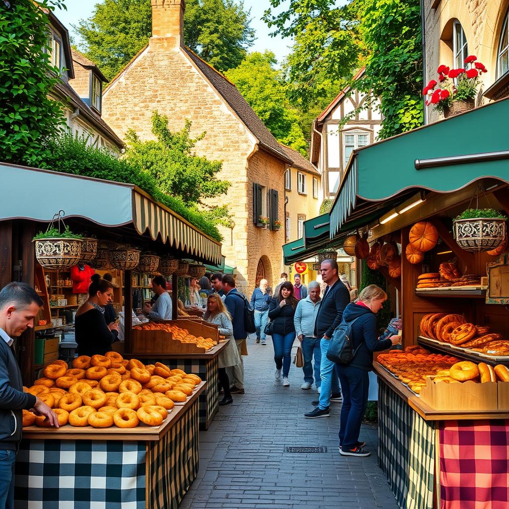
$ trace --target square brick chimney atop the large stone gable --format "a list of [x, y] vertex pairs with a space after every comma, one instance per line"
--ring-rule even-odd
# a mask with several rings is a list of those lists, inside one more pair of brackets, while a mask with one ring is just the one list
[[152, 37], [150, 44], [168, 49], [184, 46], [184, 0], [151, 0]]

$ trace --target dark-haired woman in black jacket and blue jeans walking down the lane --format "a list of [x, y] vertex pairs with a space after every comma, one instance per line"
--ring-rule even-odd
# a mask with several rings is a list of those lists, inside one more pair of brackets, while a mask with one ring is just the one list
[[293, 285], [285, 281], [279, 287], [279, 294], [272, 297], [269, 304], [269, 318], [273, 323], [272, 344], [274, 346], [274, 361], [276, 363], [276, 380], [281, 379], [283, 371], [283, 386], [288, 387], [288, 373], [290, 372], [290, 357], [295, 340], [295, 325], [293, 317], [299, 301], [293, 295]]

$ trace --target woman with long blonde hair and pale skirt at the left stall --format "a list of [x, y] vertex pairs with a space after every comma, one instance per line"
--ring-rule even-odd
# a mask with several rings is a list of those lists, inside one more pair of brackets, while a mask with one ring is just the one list
[[203, 317], [209, 323], [218, 326], [218, 332], [221, 336], [230, 339], [228, 345], [225, 346], [217, 357], [219, 364], [219, 384], [224, 391], [224, 398], [219, 405], [230, 405], [233, 403], [232, 393], [230, 392], [230, 379], [226, 372], [227, 367], [236, 366], [240, 362], [239, 351], [233, 340], [233, 324], [232, 317], [228, 313], [228, 309], [224, 305], [221, 297], [217, 293], [210, 294], [207, 297], [207, 311]]

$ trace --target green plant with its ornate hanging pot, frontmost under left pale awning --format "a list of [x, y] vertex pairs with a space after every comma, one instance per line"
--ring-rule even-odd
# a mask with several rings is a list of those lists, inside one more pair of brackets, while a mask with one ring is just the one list
[[71, 232], [68, 226], [61, 232], [51, 222], [48, 229], [39, 232], [33, 241], [37, 261], [46, 269], [70, 268], [81, 258], [81, 235]]

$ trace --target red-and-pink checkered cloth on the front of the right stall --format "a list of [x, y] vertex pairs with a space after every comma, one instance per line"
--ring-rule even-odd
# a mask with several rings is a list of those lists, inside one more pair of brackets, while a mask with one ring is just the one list
[[441, 509], [509, 507], [509, 420], [442, 421]]

